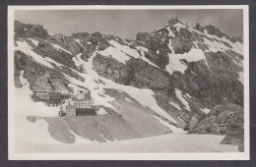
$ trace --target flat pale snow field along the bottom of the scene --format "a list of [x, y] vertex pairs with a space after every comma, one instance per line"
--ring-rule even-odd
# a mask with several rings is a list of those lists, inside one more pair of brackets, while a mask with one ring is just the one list
[[[167, 134], [144, 139], [116, 140], [74, 144], [33, 144], [24, 147], [28, 152], [88, 152], [88, 153], [145, 153], [145, 152], [238, 152], [237, 145], [221, 144], [224, 136]], [[24, 143], [23, 143], [24, 144]]]

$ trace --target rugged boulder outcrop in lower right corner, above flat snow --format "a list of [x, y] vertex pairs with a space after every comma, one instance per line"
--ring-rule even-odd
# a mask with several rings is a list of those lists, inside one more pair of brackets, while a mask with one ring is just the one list
[[218, 105], [206, 117], [192, 119], [188, 134], [225, 135], [222, 143], [239, 144], [243, 151], [244, 113], [239, 105]]

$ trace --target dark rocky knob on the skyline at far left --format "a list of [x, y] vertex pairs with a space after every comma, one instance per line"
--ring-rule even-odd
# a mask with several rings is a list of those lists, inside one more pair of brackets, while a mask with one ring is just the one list
[[47, 30], [39, 25], [25, 25], [17, 21], [14, 25], [15, 36], [46, 38], [48, 35]]

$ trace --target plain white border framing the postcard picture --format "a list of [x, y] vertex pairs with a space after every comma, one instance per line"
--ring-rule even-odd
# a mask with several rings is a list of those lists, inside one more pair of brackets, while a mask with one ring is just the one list
[[[14, 149], [14, 11], [15, 10], [166, 10], [242, 9], [244, 38], [244, 152], [235, 153], [17, 153]], [[249, 9], [248, 5], [190, 6], [8, 6], [8, 153], [10, 160], [249, 160]]]

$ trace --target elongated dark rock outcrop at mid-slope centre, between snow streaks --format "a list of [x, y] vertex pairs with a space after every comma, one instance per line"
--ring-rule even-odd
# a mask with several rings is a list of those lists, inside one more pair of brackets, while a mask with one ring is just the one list
[[124, 65], [115, 59], [96, 55], [93, 64], [99, 76], [115, 83], [152, 89], [164, 89], [169, 84], [166, 75], [160, 69], [142, 60], [130, 59], [127, 65]]

